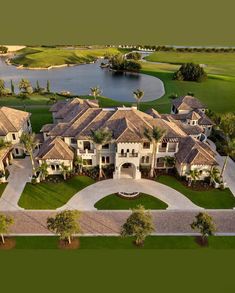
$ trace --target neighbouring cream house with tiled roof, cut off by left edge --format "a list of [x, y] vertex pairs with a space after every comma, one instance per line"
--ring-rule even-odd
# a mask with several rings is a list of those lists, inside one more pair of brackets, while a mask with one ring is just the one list
[[31, 133], [31, 113], [8, 107], [0, 107], [0, 139], [12, 144], [14, 157], [24, 154], [20, 137], [23, 132]]

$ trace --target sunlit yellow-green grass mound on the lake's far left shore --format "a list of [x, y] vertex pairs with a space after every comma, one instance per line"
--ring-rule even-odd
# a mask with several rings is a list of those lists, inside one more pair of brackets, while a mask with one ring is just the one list
[[31, 68], [47, 68], [62, 64], [84, 64], [93, 62], [97, 57], [105, 54], [120, 53], [116, 48], [66, 49], [57, 48], [24, 48], [17, 52], [13, 62]]

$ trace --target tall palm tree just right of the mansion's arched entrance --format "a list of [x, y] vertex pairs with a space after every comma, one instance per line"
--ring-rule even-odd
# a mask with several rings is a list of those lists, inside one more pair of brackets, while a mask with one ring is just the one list
[[151, 131], [149, 129], [147, 129], [147, 128], [145, 128], [145, 130], [144, 130], [144, 136], [153, 145], [153, 151], [152, 151], [152, 157], [151, 157], [150, 177], [154, 176], [157, 144], [163, 138], [164, 134], [165, 134], [165, 130], [163, 130], [163, 129], [157, 127], [157, 126], [153, 127], [151, 129]]

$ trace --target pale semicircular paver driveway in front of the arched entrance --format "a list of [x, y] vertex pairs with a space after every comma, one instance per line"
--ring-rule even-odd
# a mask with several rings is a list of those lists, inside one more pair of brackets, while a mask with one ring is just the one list
[[202, 209], [173, 188], [147, 179], [109, 179], [92, 184], [76, 193], [58, 210], [77, 209], [96, 210], [94, 204], [101, 198], [116, 192], [142, 192], [153, 195], [168, 204], [168, 209], [195, 210]]

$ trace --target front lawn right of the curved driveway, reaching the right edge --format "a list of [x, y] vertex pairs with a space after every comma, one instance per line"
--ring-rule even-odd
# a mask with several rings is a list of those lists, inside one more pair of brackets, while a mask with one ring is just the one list
[[176, 178], [166, 175], [159, 176], [157, 181], [181, 192], [200, 207], [206, 209], [232, 209], [235, 207], [235, 197], [228, 188], [195, 191], [183, 185]]

